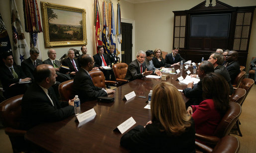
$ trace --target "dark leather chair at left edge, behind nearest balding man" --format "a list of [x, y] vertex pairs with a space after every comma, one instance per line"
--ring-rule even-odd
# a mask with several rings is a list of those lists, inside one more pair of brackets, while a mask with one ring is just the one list
[[5, 134], [8, 135], [13, 153], [24, 152], [27, 150], [24, 135], [25, 130], [18, 130], [21, 118], [21, 95], [11, 97], [0, 103], [0, 119], [5, 127]]

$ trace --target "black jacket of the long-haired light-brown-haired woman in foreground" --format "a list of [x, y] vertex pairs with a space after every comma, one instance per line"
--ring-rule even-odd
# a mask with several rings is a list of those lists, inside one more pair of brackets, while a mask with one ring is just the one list
[[162, 129], [160, 123], [136, 126], [121, 138], [121, 146], [135, 153], [195, 153], [195, 124], [181, 135], [174, 136]]

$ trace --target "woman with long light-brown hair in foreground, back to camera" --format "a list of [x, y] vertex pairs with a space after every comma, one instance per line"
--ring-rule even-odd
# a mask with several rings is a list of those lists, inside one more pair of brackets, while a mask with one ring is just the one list
[[138, 125], [121, 138], [121, 146], [135, 152], [194, 153], [195, 127], [175, 86], [162, 82], [154, 86], [151, 120]]

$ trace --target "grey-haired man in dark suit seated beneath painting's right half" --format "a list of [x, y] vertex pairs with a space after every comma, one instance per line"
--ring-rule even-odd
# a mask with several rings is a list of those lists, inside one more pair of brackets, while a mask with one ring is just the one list
[[76, 72], [79, 69], [79, 63], [75, 58], [75, 52], [72, 49], [68, 50], [68, 58], [64, 59], [62, 61], [62, 65], [69, 67], [70, 69], [70, 77], [71, 79], [74, 79], [74, 76], [76, 75]]

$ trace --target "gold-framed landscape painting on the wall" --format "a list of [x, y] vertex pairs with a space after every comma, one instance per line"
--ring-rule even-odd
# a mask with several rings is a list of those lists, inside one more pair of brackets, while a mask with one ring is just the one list
[[44, 46], [87, 45], [86, 10], [41, 1]]

